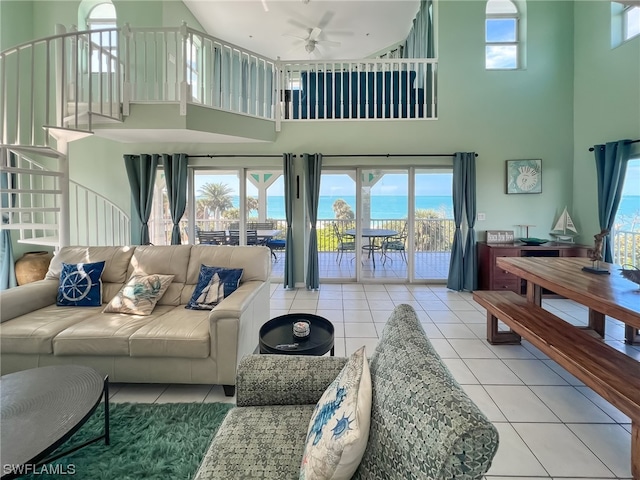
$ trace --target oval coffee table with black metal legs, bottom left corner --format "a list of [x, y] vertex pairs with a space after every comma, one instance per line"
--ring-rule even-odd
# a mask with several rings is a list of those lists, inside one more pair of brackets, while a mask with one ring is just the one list
[[[2, 480], [104, 439], [109, 445], [109, 380], [80, 365], [32, 368], [0, 377], [0, 464]], [[68, 440], [104, 399], [104, 434], [62, 453]], [[22, 469], [24, 471], [24, 469]]]

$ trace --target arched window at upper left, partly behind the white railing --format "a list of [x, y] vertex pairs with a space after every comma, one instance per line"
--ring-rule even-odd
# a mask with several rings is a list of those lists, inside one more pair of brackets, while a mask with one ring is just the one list
[[[116, 9], [111, 2], [98, 3], [86, 18], [88, 30], [116, 28]], [[118, 33], [95, 32], [91, 34], [91, 71], [114, 73], [118, 59]]]

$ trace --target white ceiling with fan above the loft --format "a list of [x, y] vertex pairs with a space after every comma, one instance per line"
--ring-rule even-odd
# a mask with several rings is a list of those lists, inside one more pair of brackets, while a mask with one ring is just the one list
[[[369, 57], [403, 42], [420, 6], [419, 0], [183, 1], [209, 35], [274, 60]], [[308, 53], [293, 36], [306, 38], [316, 27], [320, 42]]]

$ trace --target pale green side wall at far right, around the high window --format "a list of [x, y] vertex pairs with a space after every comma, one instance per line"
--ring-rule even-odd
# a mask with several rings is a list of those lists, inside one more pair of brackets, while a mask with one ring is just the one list
[[[592, 244], [598, 223], [595, 144], [640, 138], [640, 37], [611, 48], [610, 3], [575, 4], [573, 220]], [[640, 144], [634, 144], [640, 154]], [[636, 179], [640, 181], [640, 179]]]

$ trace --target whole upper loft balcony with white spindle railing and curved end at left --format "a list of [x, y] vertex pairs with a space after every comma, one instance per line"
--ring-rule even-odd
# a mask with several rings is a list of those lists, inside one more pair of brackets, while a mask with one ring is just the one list
[[0, 82], [3, 145], [272, 142], [286, 122], [437, 118], [436, 59], [284, 62], [186, 25], [28, 42], [0, 53]]

